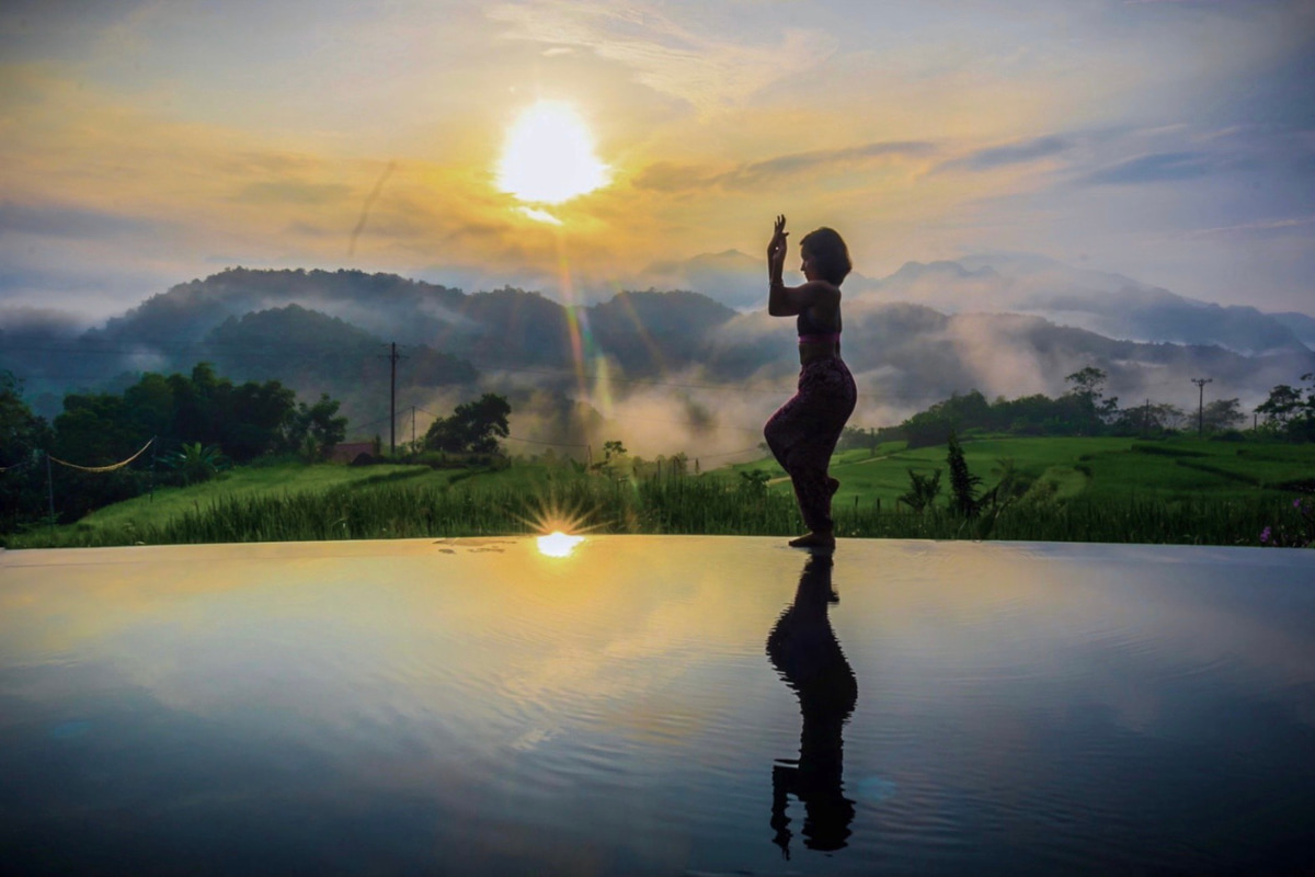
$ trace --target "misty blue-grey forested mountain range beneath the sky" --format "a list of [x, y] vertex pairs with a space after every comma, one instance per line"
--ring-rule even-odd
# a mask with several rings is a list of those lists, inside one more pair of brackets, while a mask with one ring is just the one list
[[[513, 433], [529, 442], [588, 433], [564, 425], [563, 412], [592, 408], [598, 429], [648, 452], [679, 442], [753, 447], [797, 372], [794, 325], [767, 316], [760, 262], [730, 251], [648, 273], [672, 291], [565, 308], [514, 288], [464, 293], [387, 273], [230, 268], [89, 330], [70, 330], [62, 314], [11, 313], [0, 368], [53, 415], [71, 389], [117, 389], [142, 371], [208, 360], [234, 380], [327, 392], [368, 435], [388, 418], [396, 343], [398, 409], [414, 406], [425, 423], [492, 389], [513, 398]], [[1249, 409], [1315, 371], [1306, 314], [1193, 301], [1041, 256], [910, 262], [880, 280], [851, 275], [844, 289], [860, 426], [969, 389], [1059, 394], [1064, 376], [1086, 366], [1105, 369], [1124, 404], [1187, 409], [1198, 401], [1194, 377]]]

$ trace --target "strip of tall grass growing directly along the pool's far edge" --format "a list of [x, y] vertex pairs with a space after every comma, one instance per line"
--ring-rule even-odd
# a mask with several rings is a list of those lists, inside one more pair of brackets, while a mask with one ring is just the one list
[[[216, 497], [162, 523], [128, 521], [9, 539], [12, 548], [400, 539], [527, 534], [548, 518], [575, 518], [593, 533], [793, 535], [802, 531], [794, 498], [723, 479], [638, 483], [600, 476], [555, 477], [534, 490], [509, 485], [413, 485], [380, 481], [323, 493]], [[1130, 498], [1022, 502], [963, 518], [840, 504], [840, 536], [1011, 539], [1257, 546], [1265, 527], [1297, 526], [1290, 500]], [[1291, 519], [1291, 521], [1289, 521]]]

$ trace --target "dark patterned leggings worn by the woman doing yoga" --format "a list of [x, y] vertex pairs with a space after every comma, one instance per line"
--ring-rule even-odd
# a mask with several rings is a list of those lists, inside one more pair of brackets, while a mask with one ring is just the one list
[[827, 465], [857, 397], [853, 375], [840, 359], [815, 359], [800, 369], [798, 392], [763, 427], [776, 462], [794, 484], [803, 523], [814, 533], [832, 527], [835, 490]]

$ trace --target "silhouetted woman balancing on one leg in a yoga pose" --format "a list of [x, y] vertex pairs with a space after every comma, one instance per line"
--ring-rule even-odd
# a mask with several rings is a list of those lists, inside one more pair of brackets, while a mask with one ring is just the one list
[[782, 405], [763, 433], [777, 463], [790, 476], [800, 513], [809, 533], [790, 540], [794, 547], [835, 546], [831, 497], [840, 483], [827, 475], [831, 452], [846, 421], [853, 413], [857, 389], [840, 360], [840, 284], [849, 273], [849, 250], [831, 229], [818, 229], [800, 242], [805, 283], [786, 287], [785, 217], [767, 245], [771, 292], [767, 312], [773, 317], [797, 317], [800, 335], [798, 392]]

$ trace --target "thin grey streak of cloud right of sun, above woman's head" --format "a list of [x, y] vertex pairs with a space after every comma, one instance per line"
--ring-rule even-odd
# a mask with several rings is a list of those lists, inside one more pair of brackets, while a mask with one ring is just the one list
[[934, 143], [894, 141], [778, 155], [760, 162], [748, 162], [729, 171], [711, 171], [697, 164], [655, 162], [634, 178], [633, 185], [638, 189], [655, 192], [702, 191], [710, 187], [753, 189], [807, 172], [842, 172], [872, 159], [923, 158], [935, 153]]

